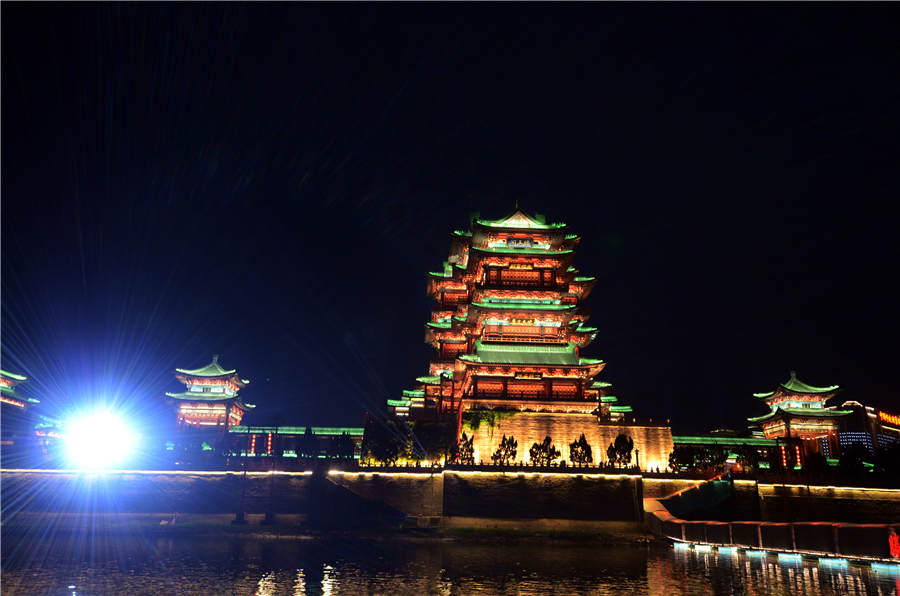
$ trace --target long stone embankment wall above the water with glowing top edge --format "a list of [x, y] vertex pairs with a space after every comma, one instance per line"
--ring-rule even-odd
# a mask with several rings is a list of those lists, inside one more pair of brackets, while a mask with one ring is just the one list
[[[637, 536], [649, 527], [658, 536], [677, 540], [721, 544], [742, 540], [756, 548], [774, 548], [776, 544], [811, 548], [815, 544], [852, 544], [858, 536], [882, 543], [879, 532], [884, 528], [866, 529], [865, 524], [900, 520], [898, 490], [738, 480], [707, 491], [705, 500], [692, 502], [690, 489], [702, 481], [597, 470], [324, 474], [3, 470], [0, 483], [7, 527], [29, 515], [55, 516], [60, 522], [89, 516], [101, 520], [103, 527], [121, 525], [125, 520], [211, 527], [228, 526], [242, 514], [250, 524], [276, 521], [313, 529], [412, 525], [448, 531]], [[673, 496], [675, 493], [679, 495]], [[844, 522], [862, 529], [846, 525], [829, 537], [821, 524], [810, 522]], [[790, 523], [789, 527], [779, 525], [785, 523]], [[843, 552], [835, 550], [838, 548], [844, 547], [829, 546], [831, 550], [823, 552]]]

